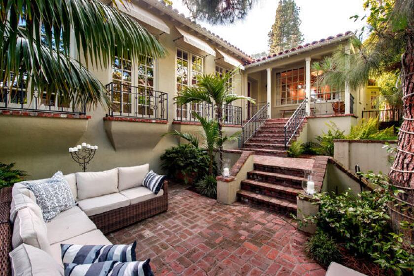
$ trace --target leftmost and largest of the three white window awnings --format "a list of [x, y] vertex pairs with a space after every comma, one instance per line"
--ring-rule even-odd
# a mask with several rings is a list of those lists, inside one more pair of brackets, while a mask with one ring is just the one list
[[124, 1], [124, 4], [118, 1], [117, 5], [120, 11], [160, 30], [161, 32], [170, 34], [170, 28], [167, 26], [167, 24], [165, 24], [164, 21], [162, 21], [160, 18], [156, 17], [152, 13], [146, 11], [145, 9], [137, 5], [134, 5], [133, 3], [130, 3], [128, 1]]

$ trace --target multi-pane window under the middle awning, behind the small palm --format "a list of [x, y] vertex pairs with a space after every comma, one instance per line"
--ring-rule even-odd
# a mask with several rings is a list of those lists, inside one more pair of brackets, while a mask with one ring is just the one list
[[[203, 58], [177, 49], [176, 59], [177, 93], [180, 93], [188, 85], [196, 85], [198, 76], [203, 74]], [[189, 82], [191, 80], [191, 83]], [[184, 104], [177, 106], [177, 117], [191, 119], [193, 111], [201, 114], [202, 104]]]

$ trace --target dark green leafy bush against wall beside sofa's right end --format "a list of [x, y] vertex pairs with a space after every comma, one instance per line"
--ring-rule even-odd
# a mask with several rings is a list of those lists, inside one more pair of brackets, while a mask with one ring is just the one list
[[169, 177], [176, 177], [178, 173], [182, 173], [186, 183], [188, 177], [192, 177], [192, 173], [196, 173], [197, 178], [208, 173], [208, 154], [191, 144], [171, 147], [160, 158], [161, 167], [167, 171]]

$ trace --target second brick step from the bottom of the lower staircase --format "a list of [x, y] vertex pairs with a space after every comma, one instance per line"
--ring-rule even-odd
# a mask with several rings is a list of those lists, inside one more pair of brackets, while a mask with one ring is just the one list
[[302, 193], [302, 189], [286, 187], [283, 185], [270, 184], [252, 179], [243, 180], [241, 183], [241, 189], [245, 191], [254, 192], [269, 197], [278, 199], [285, 199], [296, 204], [296, 196], [298, 193]]

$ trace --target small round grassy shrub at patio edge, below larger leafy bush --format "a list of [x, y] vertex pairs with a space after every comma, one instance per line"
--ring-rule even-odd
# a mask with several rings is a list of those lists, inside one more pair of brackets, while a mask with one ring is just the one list
[[318, 229], [306, 243], [305, 251], [309, 256], [325, 267], [331, 262], [340, 262], [341, 252], [334, 238], [322, 229]]

